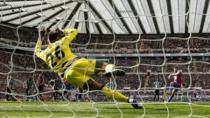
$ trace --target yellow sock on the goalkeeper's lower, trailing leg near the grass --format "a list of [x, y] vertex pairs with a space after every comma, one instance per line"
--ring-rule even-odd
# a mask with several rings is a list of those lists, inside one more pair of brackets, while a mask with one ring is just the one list
[[128, 102], [128, 97], [127, 96], [124, 96], [123, 94], [121, 94], [120, 92], [118, 91], [114, 91], [110, 88], [107, 88], [106, 86], [104, 86], [102, 89], [101, 89], [101, 92], [107, 96], [107, 97], [110, 97], [110, 98], [114, 98], [115, 100], [117, 101], [122, 101], [122, 102]]

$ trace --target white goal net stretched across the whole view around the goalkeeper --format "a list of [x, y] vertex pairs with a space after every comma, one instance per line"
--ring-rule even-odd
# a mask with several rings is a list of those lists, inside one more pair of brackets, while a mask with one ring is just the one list
[[[209, 0], [1, 0], [0, 116], [209, 117], [205, 4]], [[125, 70], [123, 77], [94, 79], [143, 109], [132, 111], [129, 103], [60, 80], [34, 54], [41, 27], [78, 29], [72, 52]], [[174, 68], [183, 86], [168, 102]]]

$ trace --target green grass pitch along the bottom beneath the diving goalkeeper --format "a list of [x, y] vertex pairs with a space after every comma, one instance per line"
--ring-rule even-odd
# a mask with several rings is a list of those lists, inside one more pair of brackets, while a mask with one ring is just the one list
[[210, 118], [210, 103], [0, 102], [1, 118]]

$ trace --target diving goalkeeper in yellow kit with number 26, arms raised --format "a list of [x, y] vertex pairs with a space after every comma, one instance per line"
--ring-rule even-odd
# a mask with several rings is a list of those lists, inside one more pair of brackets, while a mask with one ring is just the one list
[[[125, 72], [117, 69], [115, 65], [98, 62], [93, 59], [80, 58], [71, 52], [71, 42], [76, 38], [78, 30], [65, 29], [61, 31], [41, 31], [36, 46], [35, 54], [41, 58], [52, 71], [57, 73], [63, 81], [85, 90], [101, 90], [107, 97], [113, 97], [117, 101], [128, 102], [134, 108], [142, 108], [136, 99], [130, 99], [118, 91], [112, 90], [95, 81], [92, 75], [99, 72], [107, 76], [124, 76]], [[44, 35], [44, 36], [43, 36]], [[43, 38], [44, 37], [44, 38]], [[48, 39], [48, 46], [42, 50], [42, 41]]]

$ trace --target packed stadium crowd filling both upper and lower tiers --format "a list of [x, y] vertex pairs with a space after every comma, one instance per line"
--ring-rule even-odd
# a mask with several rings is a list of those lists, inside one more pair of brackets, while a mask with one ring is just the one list
[[[38, 37], [37, 32], [30, 32], [26, 29], [10, 29], [4, 30], [1, 33], [1, 43], [19, 47], [34, 48], [34, 43]], [[17, 35], [19, 34], [19, 35]], [[6, 41], [10, 39], [11, 41]], [[126, 39], [126, 40], [125, 40]], [[189, 46], [188, 46], [189, 44]], [[138, 38], [107, 38], [92, 37], [84, 38], [78, 36], [72, 44], [72, 50], [75, 53], [82, 54], [163, 54], [165, 53], [188, 53], [188, 48], [191, 53], [207, 53], [210, 49], [209, 39], [198, 38], [170, 38], [165, 39], [138, 39]], [[22, 99], [30, 97], [40, 97], [48, 99], [68, 97], [67, 93], [74, 93], [77, 97], [79, 90], [77, 88], [65, 86], [65, 82], [59, 82], [57, 75], [53, 74], [48, 67], [38, 58], [33, 55], [32, 51], [23, 51], [13, 49], [0, 48], [0, 99], [5, 99], [8, 93], [8, 78], [15, 81], [12, 85], [12, 96]], [[183, 72], [185, 87], [202, 87], [203, 90], [210, 89], [210, 66], [209, 57], [104, 57], [110, 63], [114, 63], [120, 68], [123, 68], [127, 75], [118, 77], [116, 80], [117, 89], [145, 90], [153, 88], [153, 82], [156, 79], [160, 80], [161, 87], [169, 86], [170, 80], [167, 76], [173, 71], [173, 67], [178, 67]], [[147, 72], [151, 72], [149, 79], [146, 79]], [[39, 80], [43, 79], [42, 82]], [[109, 82], [109, 78], [100, 76], [98, 81], [104, 84]], [[29, 80], [33, 80], [29, 85]], [[30, 83], [30, 82], [29, 82]], [[43, 86], [40, 87], [40, 85]], [[10, 88], [10, 87], [9, 87]], [[65, 89], [70, 92], [65, 92]], [[67, 90], [67, 91], [68, 91]], [[138, 89], [139, 90], [139, 89]], [[29, 92], [30, 91], [30, 92]], [[71, 92], [73, 91], [73, 92]], [[45, 95], [46, 94], [46, 95]], [[90, 93], [92, 94], [92, 93]], [[23, 98], [24, 95], [25, 97]], [[95, 95], [95, 94], [94, 94]], [[93, 95], [93, 96], [94, 96]], [[50, 97], [49, 97], [50, 96]], [[71, 96], [70, 96], [71, 97]], [[70, 98], [69, 98], [70, 99]], [[71, 98], [72, 99], [72, 98]], [[74, 99], [74, 98], [73, 98]]]

